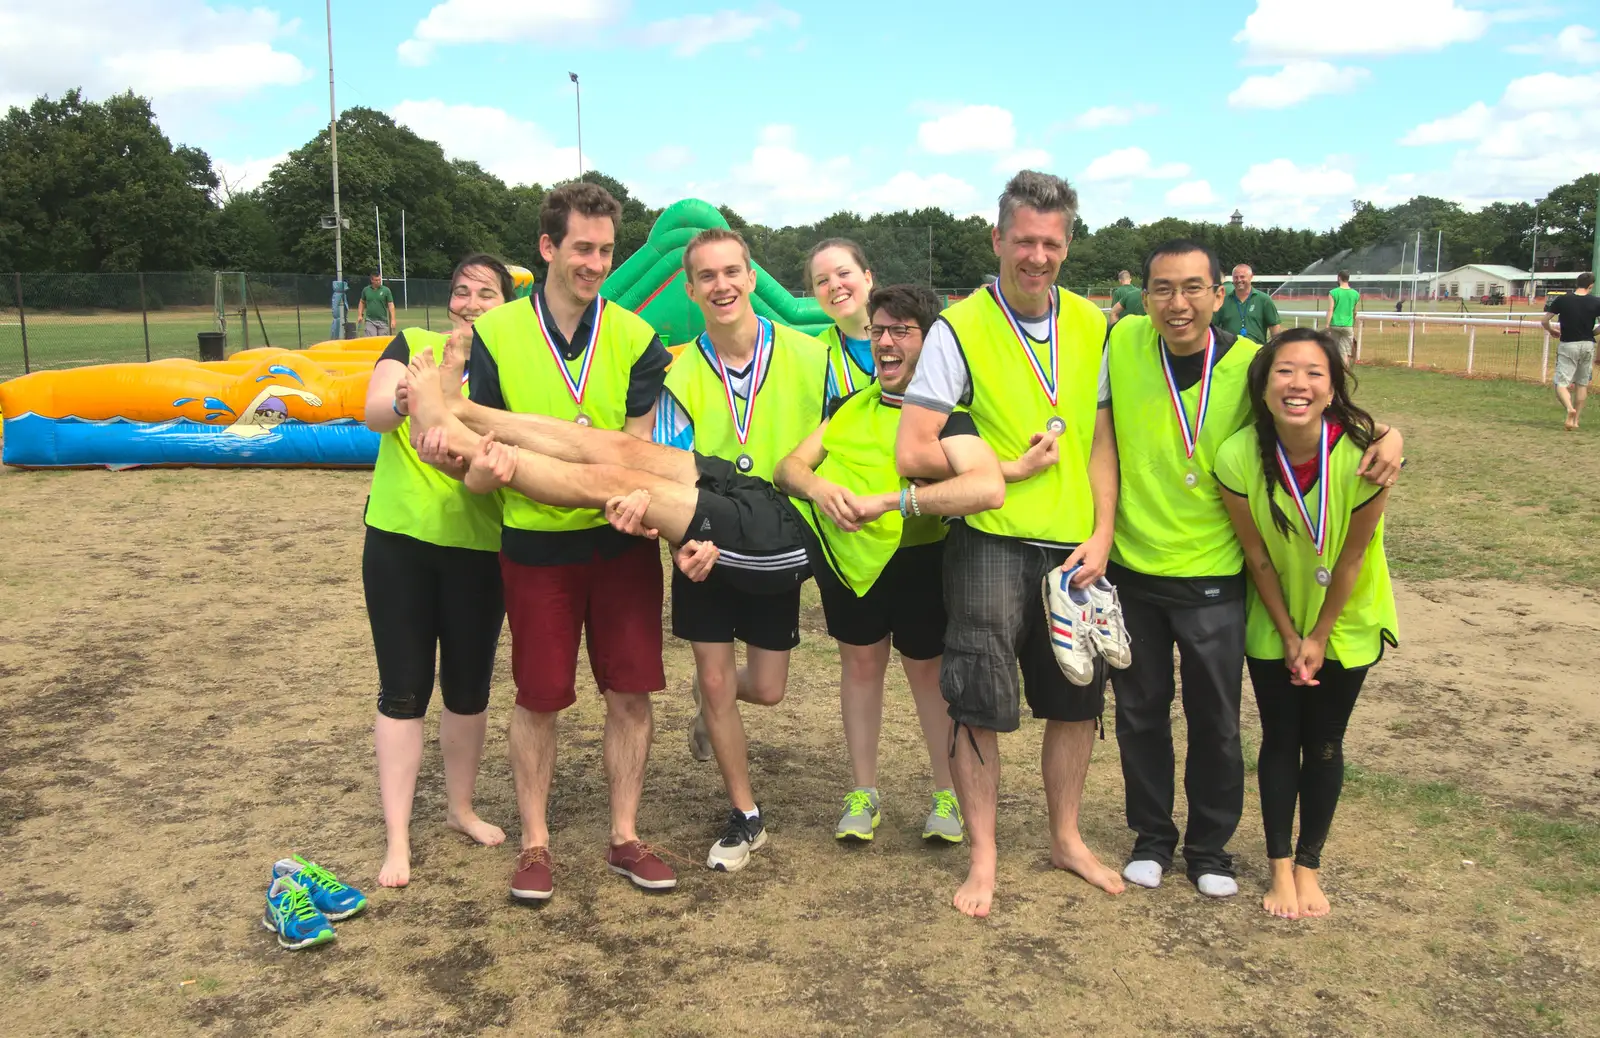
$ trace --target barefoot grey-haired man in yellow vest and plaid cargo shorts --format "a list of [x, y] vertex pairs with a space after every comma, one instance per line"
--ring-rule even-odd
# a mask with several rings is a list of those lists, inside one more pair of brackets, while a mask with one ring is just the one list
[[1061, 178], [1030, 170], [1011, 178], [992, 230], [1000, 280], [946, 310], [928, 334], [896, 441], [901, 475], [947, 478], [939, 432], [966, 408], [1002, 459], [1040, 445], [1053, 451], [1053, 464], [1006, 488], [1002, 507], [952, 525], [944, 557], [950, 622], [939, 685], [971, 846], [954, 904], [973, 916], [989, 915], [994, 899], [997, 733], [1019, 726], [1022, 691], [1046, 721], [1051, 862], [1107, 892], [1123, 889], [1078, 833], [1104, 667], [1096, 659], [1086, 686], [1070, 683], [1040, 605], [1045, 574], [1075, 568], [1072, 582], [1085, 587], [1104, 573], [1117, 512], [1117, 445], [1110, 414], [1096, 411], [1106, 317], [1056, 288], [1075, 210], [1077, 192]]

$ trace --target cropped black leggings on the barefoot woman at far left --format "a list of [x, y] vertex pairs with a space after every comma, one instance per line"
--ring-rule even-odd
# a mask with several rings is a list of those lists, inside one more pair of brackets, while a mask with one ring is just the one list
[[499, 555], [366, 528], [366, 617], [378, 653], [378, 712], [411, 720], [438, 688], [451, 713], [483, 713], [506, 605]]

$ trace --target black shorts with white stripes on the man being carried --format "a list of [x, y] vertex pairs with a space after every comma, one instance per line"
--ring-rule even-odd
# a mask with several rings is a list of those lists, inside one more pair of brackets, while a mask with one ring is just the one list
[[725, 457], [696, 454], [694, 469], [699, 499], [685, 541], [710, 541], [722, 550], [715, 573], [725, 587], [752, 595], [798, 593], [811, 563], [802, 539], [805, 520], [789, 497], [766, 480], [742, 475]]

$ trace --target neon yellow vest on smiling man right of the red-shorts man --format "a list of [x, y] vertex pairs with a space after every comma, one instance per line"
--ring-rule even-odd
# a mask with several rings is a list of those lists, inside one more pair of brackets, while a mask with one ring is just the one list
[[728, 414], [722, 376], [706, 355], [707, 349], [699, 341], [683, 349], [667, 368], [667, 392], [694, 424], [698, 453], [726, 461], [749, 454], [754, 464], [744, 475], [770, 481], [778, 462], [822, 422], [827, 347], [794, 328], [773, 325], [771, 365], [755, 389], [755, 416], [742, 445]]

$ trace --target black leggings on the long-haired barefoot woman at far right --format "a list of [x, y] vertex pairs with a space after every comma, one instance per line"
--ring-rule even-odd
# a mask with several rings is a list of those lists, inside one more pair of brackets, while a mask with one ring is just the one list
[[1299, 800], [1301, 835], [1294, 864], [1322, 867], [1322, 844], [1333, 827], [1333, 811], [1344, 788], [1344, 729], [1366, 667], [1346, 670], [1326, 661], [1317, 673], [1322, 685], [1291, 685], [1282, 659], [1248, 659], [1250, 683], [1261, 712], [1261, 822], [1267, 830], [1267, 857], [1288, 857], [1294, 836], [1294, 801]]

